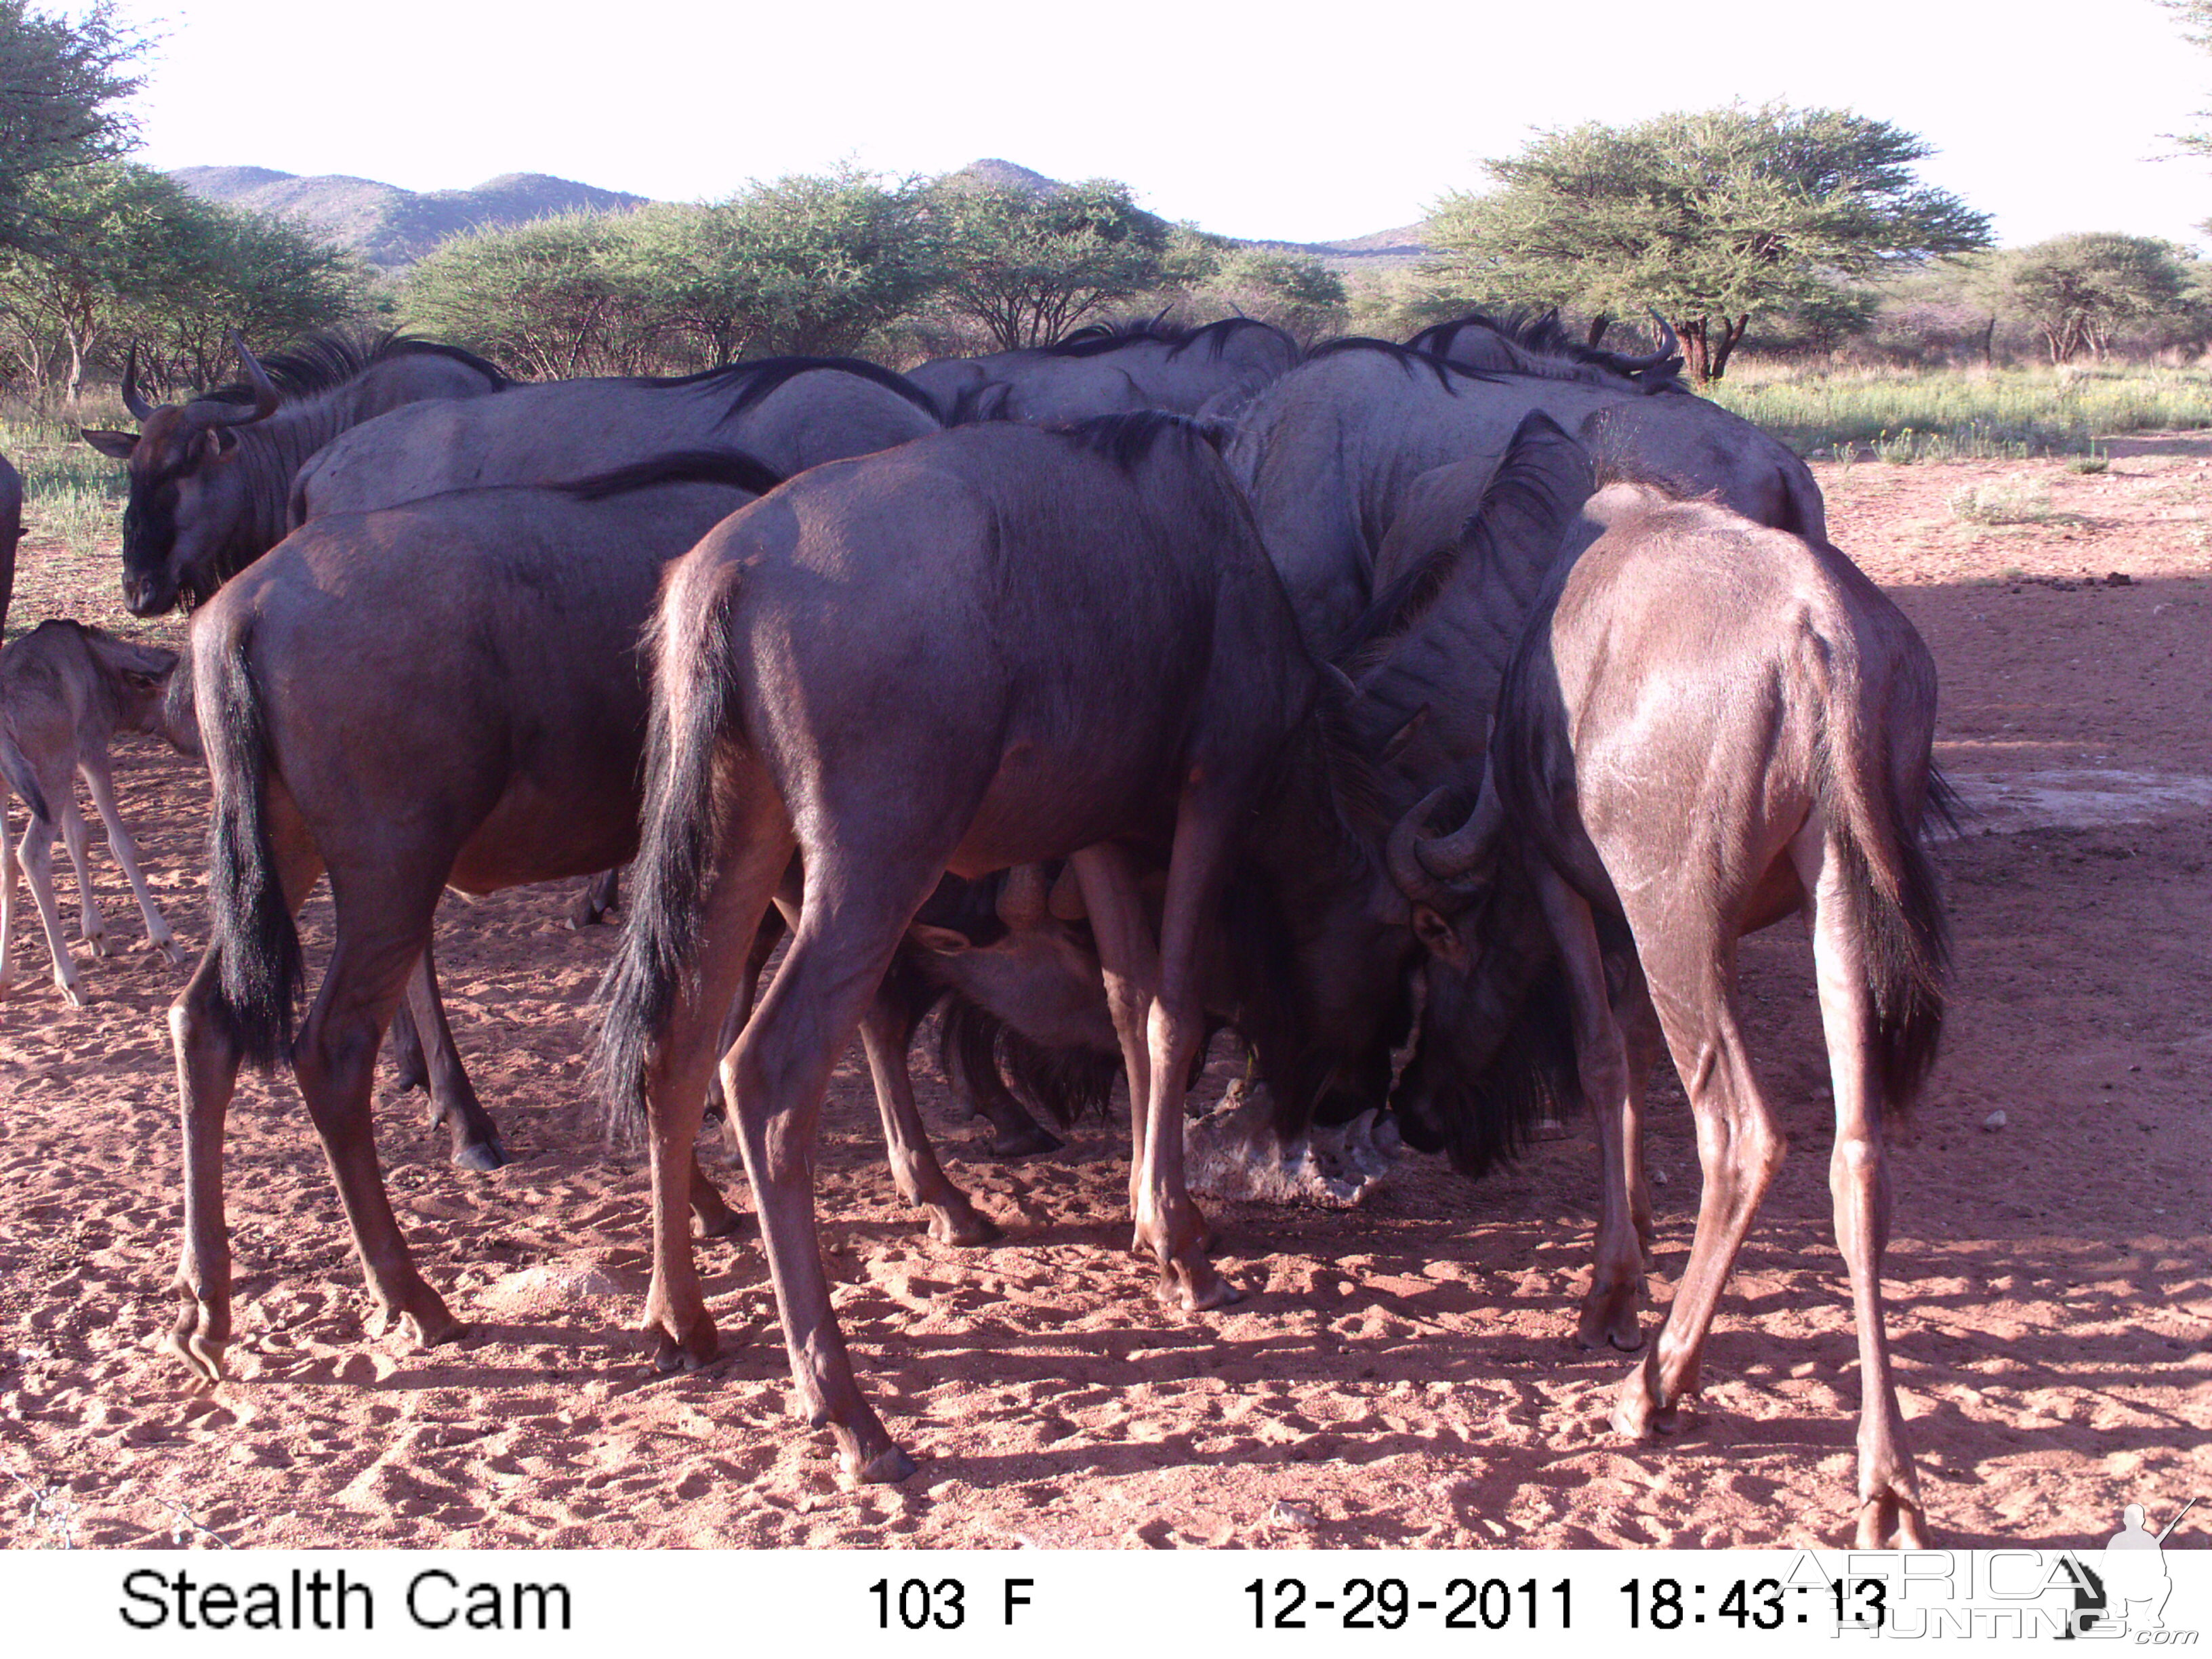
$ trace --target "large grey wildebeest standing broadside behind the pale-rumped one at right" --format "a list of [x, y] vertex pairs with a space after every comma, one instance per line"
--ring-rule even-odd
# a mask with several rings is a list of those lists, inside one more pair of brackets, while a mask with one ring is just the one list
[[1449, 462], [1504, 456], [1542, 409], [1601, 465], [1714, 493], [1761, 524], [1825, 535], [1805, 462], [1697, 396], [1626, 376], [1462, 369], [1387, 341], [1334, 341], [1265, 387], [1237, 422], [1230, 465], [1252, 495], [1298, 624], [1334, 648], [1374, 597], [1374, 557], [1407, 491]]

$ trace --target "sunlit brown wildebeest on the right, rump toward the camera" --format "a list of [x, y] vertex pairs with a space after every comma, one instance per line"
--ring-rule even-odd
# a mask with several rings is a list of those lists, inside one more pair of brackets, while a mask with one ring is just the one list
[[[1422, 845], [1438, 883], [1491, 902], [1464, 925], [1473, 975], [1431, 982], [1398, 1099], [1407, 1139], [1460, 1150], [1449, 1119], [1471, 1097], [1431, 1068], [1438, 1057], [1453, 1079], [1542, 1071], [1528, 1026], [1564, 1026], [1571, 1066], [1531, 1086], [1579, 1077], [1599, 1119], [1606, 1190], [1584, 1340], [1604, 1332], [1635, 1347], [1650, 1232], [1641, 1093], [1663, 1040], [1697, 1113], [1705, 1190], [1690, 1265], [1621, 1385], [1615, 1427], [1670, 1427], [1783, 1157], [1743, 1046], [1736, 938], [1809, 909], [1836, 1093], [1829, 1188], [1858, 1314], [1858, 1544], [1918, 1546], [1882, 1329], [1882, 1117], [1916, 1093], [1942, 1024], [1944, 922], [1920, 845], [1924, 814], [1942, 810], [1936, 668], [1905, 615], [1825, 542], [1646, 484], [1599, 491], [1586, 520], [1601, 533], [1555, 566], [1506, 670], [1473, 812]], [[1524, 885], [1544, 918], [1533, 936], [1500, 911]], [[1515, 1015], [1546, 958], [1564, 987]]]

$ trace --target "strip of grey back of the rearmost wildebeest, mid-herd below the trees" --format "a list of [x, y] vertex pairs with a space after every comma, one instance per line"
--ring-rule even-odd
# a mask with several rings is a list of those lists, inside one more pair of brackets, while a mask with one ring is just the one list
[[1298, 363], [1298, 343], [1272, 323], [1225, 316], [1201, 327], [1161, 319], [1093, 323], [1051, 345], [956, 356], [909, 372], [949, 425], [1086, 420], [1168, 409], [1234, 414]]

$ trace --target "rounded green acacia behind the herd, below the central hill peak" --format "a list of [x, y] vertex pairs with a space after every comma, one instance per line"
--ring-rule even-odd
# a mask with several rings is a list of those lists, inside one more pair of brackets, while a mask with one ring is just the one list
[[1168, 252], [1168, 223], [1113, 179], [1051, 190], [945, 181], [931, 219], [947, 310], [1006, 352], [1055, 341], [1102, 305], [1146, 292]]

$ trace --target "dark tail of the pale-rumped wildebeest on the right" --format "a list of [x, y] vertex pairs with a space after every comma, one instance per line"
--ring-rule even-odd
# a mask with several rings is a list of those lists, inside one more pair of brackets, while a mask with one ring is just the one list
[[1898, 1113], [1920, 1093], [1942, 1040], [1951, 938], [1924, 830], [1929, 821], [1955, 821], [1953, 794], [1922, 759], [1924, 783], [1911, 810], [1856, 688], [1838, 684], [1827, 708], [1820, 796], [1865, 927], [1882, 1110]]

